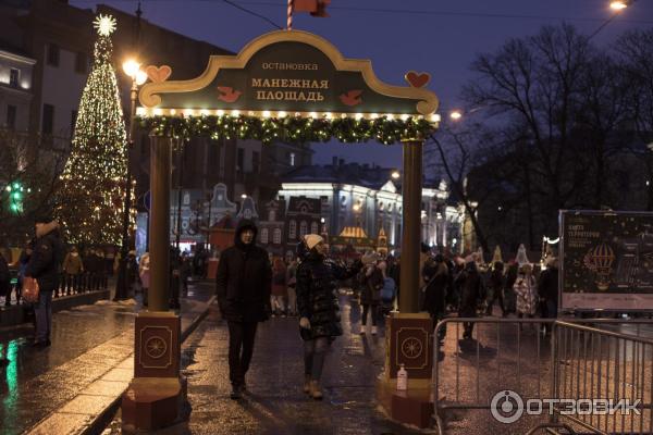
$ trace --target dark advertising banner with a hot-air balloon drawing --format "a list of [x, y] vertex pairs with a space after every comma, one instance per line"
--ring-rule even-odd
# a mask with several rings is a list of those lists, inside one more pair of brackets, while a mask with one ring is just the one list
[[653, 310], [653, 213], [560, 212], [563, 310]]

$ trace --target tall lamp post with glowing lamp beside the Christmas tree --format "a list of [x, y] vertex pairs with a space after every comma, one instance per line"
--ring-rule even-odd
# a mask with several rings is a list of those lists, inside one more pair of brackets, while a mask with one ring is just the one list
[[132, 102], [130, 112], [130, 134], [127, 137], [127, 174], [125, 184], [125, 203], [123, 209], [123, 236], [120, 250], [120, 264], [118, 269], [118, 282], [115, 284], [115, 296], [113, 300], [126, 299], [128, 295], [127, 277], [127, 254], [130, 252], [130, 209], [132, 208], [132, 169], [130, 165], [130, 153], [134, 148], [134, 117], [136, 116], [136, 99], [138, 97], [138, 86], [147, 79], [145, 72], [140, 71], [140, 64], [131, 59], [123, 63], [123, 71], [132, 78], [132, 88], [130, 90], [130, 100]]

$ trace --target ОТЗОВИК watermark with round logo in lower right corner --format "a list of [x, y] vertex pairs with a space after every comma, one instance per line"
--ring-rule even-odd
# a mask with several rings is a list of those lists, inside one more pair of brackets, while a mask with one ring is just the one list
[[528, 399], [510, 389], [498, 391], [490, 402], [492, 417], [501, 423], [510, 424], [519, 420], [523, 413], [542, 415], [554, 412], [560, 415], [641, 415], [641, 400], [637, 399]]

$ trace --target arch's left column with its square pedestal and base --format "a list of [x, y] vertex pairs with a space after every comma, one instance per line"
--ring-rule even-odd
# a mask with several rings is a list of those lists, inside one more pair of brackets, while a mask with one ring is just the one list
[[180, 376], [181, 318], [170, 303], [172, 138], [150, 136], [150, 288], [135, 322], [134, 378], [122, 398], [123, 432], [175, 423], [186, 400]]

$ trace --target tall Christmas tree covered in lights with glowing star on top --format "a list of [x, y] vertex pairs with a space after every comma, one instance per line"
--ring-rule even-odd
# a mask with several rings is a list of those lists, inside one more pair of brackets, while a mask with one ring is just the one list
[[61, 175], [57, 215], [73, 244], [118, 245], [122, 235], [126, 133], [111, 57], [112, 16], [94, 22], [98, 39], [82, 94], [71, 156]]

